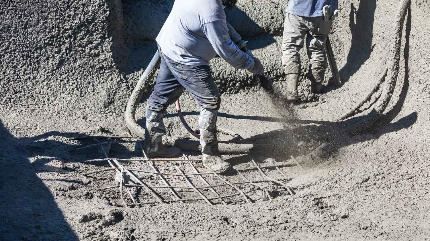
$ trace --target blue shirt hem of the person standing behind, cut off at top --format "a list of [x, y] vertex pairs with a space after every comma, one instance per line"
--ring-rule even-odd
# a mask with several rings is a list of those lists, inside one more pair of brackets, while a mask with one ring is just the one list
[[329, 16], [338, 9], [338, 0], [289, 0], [287, 13], [302, 17], [323, 16], [322, 8], [329, 5]]

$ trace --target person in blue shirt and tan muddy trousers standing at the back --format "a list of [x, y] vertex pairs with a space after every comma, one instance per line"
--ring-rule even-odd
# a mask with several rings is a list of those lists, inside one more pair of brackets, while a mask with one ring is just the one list
[[[325, 16], [324, 6], [327, 6]], [[320, 93], [327, 68], [326, 40], [332, 27], [333, 13], [338, 9], [338, 0], [290, 0], [286, 9], [282, 40], [282, 64], [284, 66], [286, 98], [298, 100], [297, 84], [301, 61], [299, 50], [306, 49], [310, 61], [311, 92]]]

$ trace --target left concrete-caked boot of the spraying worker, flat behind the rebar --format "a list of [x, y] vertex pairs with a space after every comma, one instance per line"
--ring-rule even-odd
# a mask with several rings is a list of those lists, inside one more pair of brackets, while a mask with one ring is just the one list
[[175, 146], [166, 146], [161, 143], [166, 127], [163, 122], [163, 112], [146, 110], [145, 142], [149, 158], [172, 158], [181, 155], [181, 150]]

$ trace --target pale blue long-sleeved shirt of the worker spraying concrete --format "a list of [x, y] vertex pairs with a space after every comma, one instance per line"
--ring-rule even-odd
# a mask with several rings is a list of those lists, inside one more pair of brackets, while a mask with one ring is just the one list
[[184, 65], [209, 65], [218, 54], [234, 68], [254, 68], [254, 59], [230, 39], [221, 0], [175, 0], [156, 41]]

